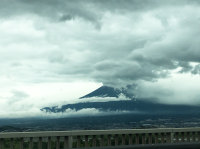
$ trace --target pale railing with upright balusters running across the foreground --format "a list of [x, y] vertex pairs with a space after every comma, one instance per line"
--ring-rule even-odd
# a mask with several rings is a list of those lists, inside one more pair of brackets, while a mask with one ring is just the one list
[[200, 142], [200, 128], [0, 133], [0, 149], [69, 149]]

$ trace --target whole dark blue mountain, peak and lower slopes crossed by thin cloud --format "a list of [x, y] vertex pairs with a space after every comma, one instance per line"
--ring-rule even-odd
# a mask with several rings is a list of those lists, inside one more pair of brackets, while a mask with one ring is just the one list
[[[116, 101], [101, 101], [105, 97], [118, 98], [120, 95], [124, 95], [126, 100]], [[84, 98], [96, 97], [99, 99], [98, 102], [87, 102]], [[61, 107], [44, 107], [41, 111], [48, 113], [65, 112], [66, 109], [73, 109], [76, 111], [95, 108], [99, 111], [112, 112], [112, 111], [129, 111], [135, 113], [146, 113], [146, 114], [197, 114], [200, 113], [199, 106], [189, 105], [167, 105], [161, 103], [152, 102], [153, 100], [137, 99], [134, 100], [134, 95], [130, 94], [125, 88], [115, 89], [108, 86], [102, 86], [97, 90], [80, 97], [80, 102], [75, 104], [66, 104]]]

